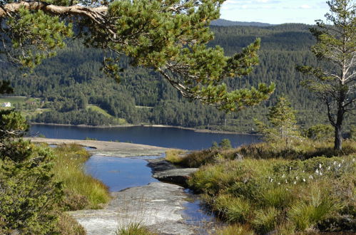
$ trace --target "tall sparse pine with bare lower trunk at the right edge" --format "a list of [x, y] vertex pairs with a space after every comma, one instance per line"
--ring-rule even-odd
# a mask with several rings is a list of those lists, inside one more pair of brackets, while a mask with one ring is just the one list
[[297, 69], [312, 79], [305, 80], [309, 90], [325, 104], [327, 117], [335, 132], [335, 150], [342, 150], [342, 122], [356, 109], [356, 17], [355, 1], [327, 1], [330, 13], [327, 24], [317, 21], [311, 31], [317, 39], [312, 53], [327, 66], [299, 66]]

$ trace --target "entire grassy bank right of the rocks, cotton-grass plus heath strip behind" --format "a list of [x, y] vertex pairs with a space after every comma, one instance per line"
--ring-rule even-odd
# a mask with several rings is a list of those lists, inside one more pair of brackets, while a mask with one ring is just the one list
[[218, 234], [355, 229], [355, 141], [346, 141], [343, 152], [333, 151], [332, 143], [306, 140], [288, 148], [260, 143], [171, 158], [200, 167], [188, 184], [231, 224]]

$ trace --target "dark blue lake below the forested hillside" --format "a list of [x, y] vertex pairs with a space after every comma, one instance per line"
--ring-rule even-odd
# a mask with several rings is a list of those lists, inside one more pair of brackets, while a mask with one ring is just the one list
[[218, 134], [194, 132], [171, 127], [66, 127], [56, 125], [32, 125], [30, 135], [44, 135], [47, 138], [133, 142], [142, 145], [174, 147], [184, 150], [201, 150], [211, 147], [212, 142], [229, 139], [233, 147], [260, 142], [256, 135]]

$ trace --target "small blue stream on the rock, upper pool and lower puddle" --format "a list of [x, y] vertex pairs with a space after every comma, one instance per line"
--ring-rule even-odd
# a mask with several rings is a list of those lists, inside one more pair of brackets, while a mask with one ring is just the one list
[[[86, 172], [101, 180], [110, 192], [119, 192], [123, 189], [138, 187], [158, 182], [152, 177], [151, 168], [147, 166], [148, 159], [162, 156], [144, 157], [101, 157], [93, 155], [86, 162]], [[208, 234], [206, 227], [217, 223], [214, 216], [206, 213], [200, 205], [200, 200], [189, 189], [184, 190], [187, 202], [183, 205], [183, 218], [187, 224], [201, 228], [199, 234]]]

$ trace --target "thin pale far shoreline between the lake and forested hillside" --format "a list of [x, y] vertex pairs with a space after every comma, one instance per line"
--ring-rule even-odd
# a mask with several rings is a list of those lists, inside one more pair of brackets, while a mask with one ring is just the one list
[[62, 126], [62, 127], [86, 127], [86, 128], [116, 128], [116, 127], [165, 127], [165, 128], [176, 128], [181, 130], [192, 130], [194, 132], [201, 132], [201, 133], [215, 133], [215, 134], [229, 134], [229, 135], [258, 135], [248, 132], [232, 132], [227, 130], [207, 130], [207, 129], [197, 129], [193, 127], [180, 127], [174, 125], [143, 125], [143, 124], [126, 124], [126, 125], [71, 125], [71, 124], [58, 124], [58, 123], [39, 123], [39, 122], [30, 122], [30, 125], [55, 125], [55, 126]]

